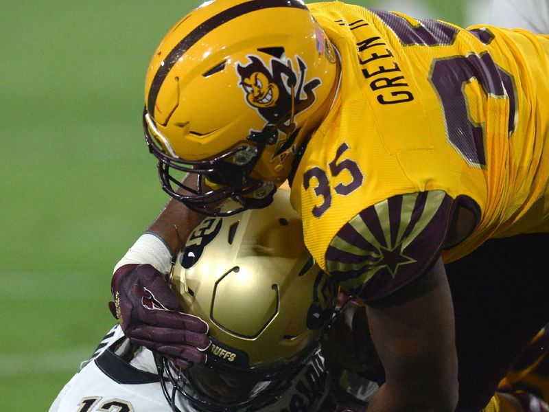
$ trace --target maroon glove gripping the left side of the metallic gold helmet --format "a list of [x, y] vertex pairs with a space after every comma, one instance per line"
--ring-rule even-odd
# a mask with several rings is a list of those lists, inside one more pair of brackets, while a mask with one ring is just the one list
[[205, 363], [208, 325], [181, 312], [175, 293], [150, 264], [126, 264], [113, 275], [108, 307], [124, 334], [137, 345], [170, 358], [183, 369]]

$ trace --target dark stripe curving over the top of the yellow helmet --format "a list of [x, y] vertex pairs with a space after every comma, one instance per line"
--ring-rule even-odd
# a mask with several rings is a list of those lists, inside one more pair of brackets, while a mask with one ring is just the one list
[[154, 117], [154, 105], [156, 104], [156, 98], [158, 98], [160, 88], [162, 87], [167, 73], [170, 73], [170, 70], [174, 67], [179, 58], [183, 56], [183, 54], [185, 54], [192, 45], [199, 41], [200, 38], [211, 32], [211, 30], [215, 29], [215, 27], [227, 23], [238, 16], [242, 16], [242, 14], [275, 7], [301, 8], [307, 10], [305, 4], [299, 0], [252, 0], [224, 10], [223, 12], [212, 16], [207, 21], [195, 27], [194, 30], [192, 30], [179, 43], [177, 43], [176, 47], [174, 47], [170, 54], [168, 54], [164, 59], [164, 64], [159, 67], [159, 71], [156, 71], [154, 79], [152, 80], [147, 101], [149, 113]]

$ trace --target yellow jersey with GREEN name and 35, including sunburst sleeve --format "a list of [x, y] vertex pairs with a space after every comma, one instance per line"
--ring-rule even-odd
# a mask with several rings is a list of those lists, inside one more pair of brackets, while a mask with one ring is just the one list
[[[342, 64], [292, 205], [320, 266], [382, 297], [484, 240], [549, 231], [549, 38], [309, 4]], [[443, 244], [456, 206], [474, 231]]]

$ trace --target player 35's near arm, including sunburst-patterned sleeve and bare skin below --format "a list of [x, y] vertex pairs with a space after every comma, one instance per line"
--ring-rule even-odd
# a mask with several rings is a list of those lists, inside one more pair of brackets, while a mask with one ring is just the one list
[[369, 411], [456, 406], [454, 309], [440, 256], [476, 225], [471, 210], [468, 198], [440, 190], [393, 196], [362, 210], [331, 241], [327, 269], [366, 303], [386, 374]]

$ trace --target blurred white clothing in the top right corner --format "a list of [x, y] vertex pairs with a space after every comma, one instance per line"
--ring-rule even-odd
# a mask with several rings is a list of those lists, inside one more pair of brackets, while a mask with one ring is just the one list
[[492, 0], [489, 23], [509, 29], [549, 33], [548, 0]]

